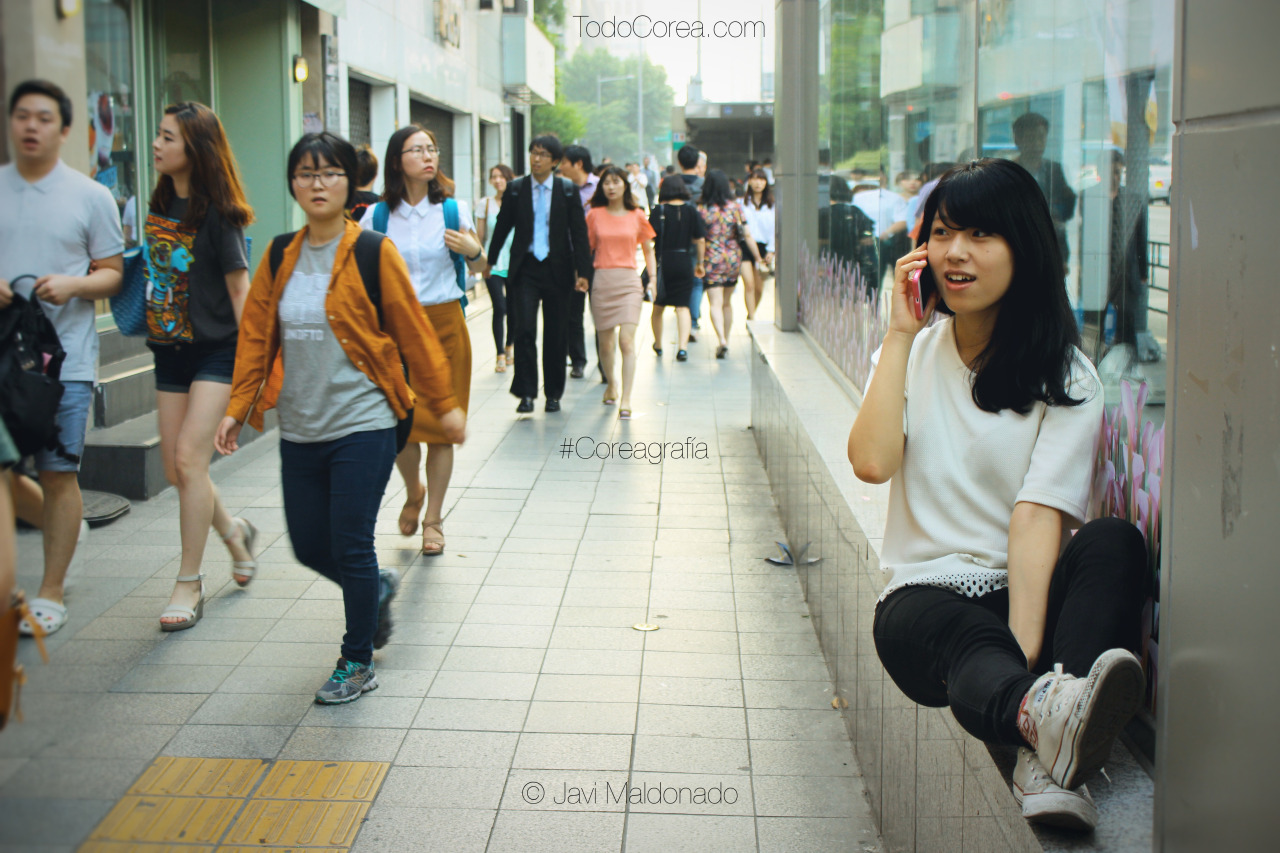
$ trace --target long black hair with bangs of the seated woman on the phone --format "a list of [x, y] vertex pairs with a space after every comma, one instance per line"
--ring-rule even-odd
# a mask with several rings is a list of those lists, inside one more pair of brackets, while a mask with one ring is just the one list
[[[1048, 202], [1036, 178], [1011, 160], [987, 158], [950, 169], [924, 202], [916, 246], [938, 224], [980, 228], [1001, 236], [1012, 255], [1014, 277], [1000, 301], [996, 328], [978, 355], [973, 402], [983, 411], [1030, 411], [1036, 401], [1078, 406], [1068, 394], [1080, 332], [1062, 280], [1062, 251]], [[937, 275], [932, 266], [925, 270]], [[945, 292], [933, 278], [934, 292]], [[925, 296], [928, 298], [928, 296]], [[938, 300], [937, 310], [954, 314]]]

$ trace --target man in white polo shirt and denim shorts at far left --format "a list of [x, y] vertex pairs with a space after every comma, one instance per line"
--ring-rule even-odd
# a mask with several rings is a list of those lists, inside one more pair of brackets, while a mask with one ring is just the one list
[[[45, 491], [45, 578], [31, 611], [46, 631], [67, 621], [63, 581], [83, 515], [77, 473], [97, 378], [93, 300], [116, 293], [124, 269], [124, 234], [110, 191], [60, 159], [70, 128], [72, 102], [56, 85], [32, 79], [14, 88], [13, 163], [0, 167], [0, 309], [14, 292], [35, 296], [58, 330], [67, 351], [58, 437], [74, 457], [41, 451], [35, 460]], [[18, 280], [26, 275], [35, 280]]]

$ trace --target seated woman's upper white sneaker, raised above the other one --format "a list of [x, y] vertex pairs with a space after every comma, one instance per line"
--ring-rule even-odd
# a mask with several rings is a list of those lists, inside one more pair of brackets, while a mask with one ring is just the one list
[[1100, 654], [1087, 679], [1059, 663], [1028, 690], [1018, 729], [1053, 781], [1073, 789], [1106, 762], [1144, 686], [1142, 663], [1123, 648]]

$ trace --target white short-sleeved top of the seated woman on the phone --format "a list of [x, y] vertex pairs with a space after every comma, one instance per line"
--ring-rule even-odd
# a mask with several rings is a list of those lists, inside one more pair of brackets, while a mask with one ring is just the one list
[[[1075, 350], [1068, 394], [1085, 398], [1079, 406], [982, 411], [954, 323], [947, 318], [920, 332], [908, 357], [906, 446], [890, 480], [881, 549], [881, 567], [893, 576], [881, 599], [922, 584], [965, 596], [1005, 588], [1015, 503], [1061, 511], [1064, 530], [1080, 526], [1088, 508], [1103, 402], [1093, 365]], [[873, 377], [878, 359], [879, 351]]]

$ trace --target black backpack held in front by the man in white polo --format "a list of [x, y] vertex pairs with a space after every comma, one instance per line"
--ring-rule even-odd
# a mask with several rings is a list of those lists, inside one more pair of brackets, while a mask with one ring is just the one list
[[[24, 278], [36, 277], [19, 275], [10, 287]], [[23, 456], [49, 450], [79, 462], [58, 438], [59, 377], [65, 359], [58, 332], [38, 301], [14, 293], [13, 302], [0, 311], [0, 419]]]

